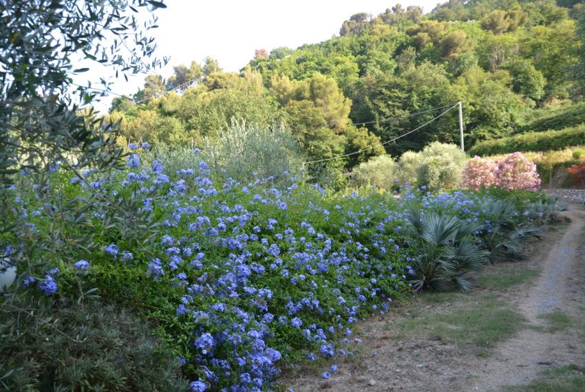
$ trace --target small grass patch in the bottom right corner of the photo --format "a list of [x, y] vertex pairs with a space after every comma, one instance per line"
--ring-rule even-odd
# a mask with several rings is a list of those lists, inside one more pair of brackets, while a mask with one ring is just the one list
[[526, 385], [511, 386], [507, 392], [574, 392], [585, 391], [585, 367], [570, 364], [543, 371], [542, 377]]

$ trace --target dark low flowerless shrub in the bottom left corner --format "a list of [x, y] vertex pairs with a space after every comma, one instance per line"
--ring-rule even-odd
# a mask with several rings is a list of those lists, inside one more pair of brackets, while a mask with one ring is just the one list
[[50, 302], [11, 294], [0, 304], [5, 390], [189, 389], [175, 355], [129, 310], [100, 302], [65, 307]]

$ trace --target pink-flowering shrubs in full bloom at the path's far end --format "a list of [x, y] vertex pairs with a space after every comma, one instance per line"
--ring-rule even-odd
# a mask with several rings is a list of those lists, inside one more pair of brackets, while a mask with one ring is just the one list
[[536, 165], [522, 153], [511, 153], [497, 162], [477, 155], [463, 169], [462, 185], [478, 190], [498, 186], [505, 189], [538, 190], [540, 177]]

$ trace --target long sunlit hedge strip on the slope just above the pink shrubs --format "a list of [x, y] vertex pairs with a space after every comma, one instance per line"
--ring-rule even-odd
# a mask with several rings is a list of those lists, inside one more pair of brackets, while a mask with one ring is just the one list
[[581, 144], [585, 144], [585, 125], [562, 131], [527, 132], [507, 138], [486, 140], [471, 147], [469, 154], [496, 155], [515, 151], [550, 151]]

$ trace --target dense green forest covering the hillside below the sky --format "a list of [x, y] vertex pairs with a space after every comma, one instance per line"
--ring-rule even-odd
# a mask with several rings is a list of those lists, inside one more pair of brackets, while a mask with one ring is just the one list
[[368, 147], [374, 155], [458, 142], [451, 110], [398, 142], [384, 142], [462, 101], [466, 149], [526, 129], [533, 110], [579, 100], [585, 73], [584, 4], [577, 0], [450, 0], [423, 15], [397, 4], [352, 15], [339, 36], [296, 50], [256, 51], [240, 73], [213, 58], [151, 74], [111, 120], [125, 142], [198, 145], [234, 121], [284, 126], [307, 160]]

